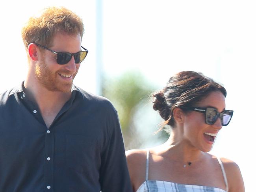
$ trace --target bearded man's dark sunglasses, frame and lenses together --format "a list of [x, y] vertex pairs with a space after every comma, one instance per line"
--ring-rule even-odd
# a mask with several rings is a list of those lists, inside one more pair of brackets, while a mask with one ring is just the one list
[[44, 49], [46, 49], [46, 50], [56, 54], [57, 55], [57, 63], [59, 65], [64, 65], [64, 64], [69, 63], [69, 61], [71, 60], [73, 55], [74, 55], [75, 63], [81, 63], [85, 59], [85, 57], [86, 57], [86, 55], [88, 53], [88, 50], [83, 48], [82, 46], [81, 47], [85, 51], [80, 51], [80, 52], [77, 52], [75, 54], [70, 54], [69, 52], [56, 52], [56, 51], [51, 50], [51, 49], [49, 49], [49, 48], [47, 48], [47, 47], [45, 47], [43, 45], [38, 44], [38, 43], [35, 43], [35, 44], [37, 46], [41, 47], [41, 48], [44, 48]]

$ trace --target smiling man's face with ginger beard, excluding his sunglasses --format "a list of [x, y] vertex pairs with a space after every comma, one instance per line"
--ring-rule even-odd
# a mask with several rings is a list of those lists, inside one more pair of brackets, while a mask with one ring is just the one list
[[[48, 47], [56, 52], [76, 53], [81, 51], [80, 35], [67, 35], [57, 33], [54, 36], [53, 46]], [[74, 63], [74, 56], [65, 65], [59, 65], [56, 61], [57, 55], [41, 50], [41, 59], [35, 66], [35, 75], [46, 89], [50, 91], [69, 92], [80, 63]]]

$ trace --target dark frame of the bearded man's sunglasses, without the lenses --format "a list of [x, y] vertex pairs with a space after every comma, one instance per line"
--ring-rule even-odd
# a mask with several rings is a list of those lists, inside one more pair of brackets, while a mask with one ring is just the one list
[[[57, 55], [57, 59], [56, 59], [56, 60], [57, 60], [57, 63], [58, 63], [59, 65], [65, 65], [65, 64], [69, 63], [69, 61], [71, 60], [71, 58], [72, 58], [73, 55], [74, 55], [74, 59], [76, 60], [76, 56], [77, 56], [77, 55], [80, 55], [81, 52], [86, 52], [84, 58], [80, 59], [79, 62], [75, 62], [76, 64], [81, 63], [81, 62], [85, 59], [85, 57], [87, 56], [87, 54], [88, 54], [88, 50], [85, 49], [85, 48], [83, 48], [83, 46], [81, 46], [81, 47], [84, 49], [84, 51], [79, 51], [79, 52], [77, 52], [77, 53], [71, 54], [71, 53], [69, 53], [69, 52], [56, 52], [56, 51], [51, 50], [51, 49], [49, 49], [49, 48], [47, 48], [47, 47], [45, 47], [45, 46], [43, 46], [43, 45], [41, 45], [41, 44], [38, 44], [38, 43], [35, 43], [35, 44], [36, 44], [37, 46], [41, 47], [41, 48], [44, 48], [44, 49], [46, 49], [46, 50], [52, 52], [53, 54], [56, 54], [56, 55]], [[60, 56], [61, 54], [65, 54], [66, 56], [68, 55], [68, 58], [69, 58], [69, 59], [66, 59], [66, 60], [63, 61], [63, 62], [59, 62], [59, 61], [58, 61], [58, 56]], [[67, 57], [65, 57], [65, 58], [67, 58]]]

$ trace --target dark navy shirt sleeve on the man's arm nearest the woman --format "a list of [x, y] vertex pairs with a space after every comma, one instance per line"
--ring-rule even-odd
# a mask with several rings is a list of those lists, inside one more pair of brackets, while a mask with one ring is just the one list
[[132, 192], [126, 164], [124, 142], [117, 112], [107, 119], [108, 141], [101, 153], [100, 185], [102, 192]]

